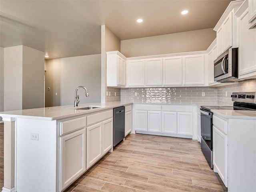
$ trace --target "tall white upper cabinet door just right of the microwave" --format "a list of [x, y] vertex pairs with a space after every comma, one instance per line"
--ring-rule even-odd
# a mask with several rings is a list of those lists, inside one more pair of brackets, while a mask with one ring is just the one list
[[[248, 9], [238, 18], [239, 78], [256, 78], [256, 29], [248, 29]], [[250, 75], [251, 74], [251, 75]]]

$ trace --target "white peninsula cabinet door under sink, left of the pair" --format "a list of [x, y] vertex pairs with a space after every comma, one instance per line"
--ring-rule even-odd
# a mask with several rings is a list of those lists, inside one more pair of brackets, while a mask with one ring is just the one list
[[102, 122], [86, 128], [86, 168], [88, 169], [102, 156]]

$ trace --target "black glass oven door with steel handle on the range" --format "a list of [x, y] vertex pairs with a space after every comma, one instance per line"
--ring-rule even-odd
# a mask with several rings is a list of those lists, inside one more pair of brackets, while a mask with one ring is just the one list
[[200, 109], [201, 112], [201, 136], [210, 150], [212, 150], [212, 112]]

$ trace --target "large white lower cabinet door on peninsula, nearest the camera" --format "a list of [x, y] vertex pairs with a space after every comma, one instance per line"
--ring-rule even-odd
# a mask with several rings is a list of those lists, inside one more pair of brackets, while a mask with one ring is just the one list
[[60, 190], [86, 171], [86, 129], [60, 138]]

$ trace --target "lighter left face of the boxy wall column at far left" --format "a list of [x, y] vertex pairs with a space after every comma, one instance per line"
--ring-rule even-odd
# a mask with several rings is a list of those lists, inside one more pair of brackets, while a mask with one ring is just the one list
[[4, 111], [22, 109], [22, 49], [4, 48]]

